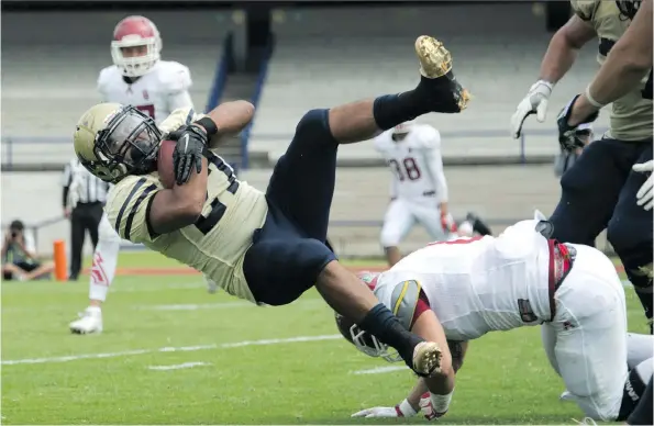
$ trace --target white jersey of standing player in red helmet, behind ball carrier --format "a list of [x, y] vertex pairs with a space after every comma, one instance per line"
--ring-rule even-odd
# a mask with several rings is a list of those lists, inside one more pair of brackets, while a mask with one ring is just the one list
[[192, 108], [188, 93], [191, 85], [188, 67], [170, 60], [157, 61], [132, 83], [125, 81], [115, 65], [102, 69], [98, 77], [98, 91], [103, 102], [136, 107], [157, 123], [177, 109]]

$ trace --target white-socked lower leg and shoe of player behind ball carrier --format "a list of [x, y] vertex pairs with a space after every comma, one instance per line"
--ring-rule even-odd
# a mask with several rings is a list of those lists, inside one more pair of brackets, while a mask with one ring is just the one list
[[107, 300], [109, 285], [115, 276], [120, 237], [106, 215], [100, 221], [98, 234], [89, 282], [89, 306], [80, 314], [79, 320], [70, 323], [70, 332], [75, 334], [102, 333], [101, 305]]

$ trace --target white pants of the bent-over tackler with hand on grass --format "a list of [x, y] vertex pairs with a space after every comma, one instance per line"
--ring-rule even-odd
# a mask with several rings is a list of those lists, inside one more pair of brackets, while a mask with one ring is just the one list
[[610, 422], [628, 377], [624, 289], [602, 253], [573, 246], [577, 258], [554, 295], [553, 321], [542, 326], [543, 345], [584, 413]]

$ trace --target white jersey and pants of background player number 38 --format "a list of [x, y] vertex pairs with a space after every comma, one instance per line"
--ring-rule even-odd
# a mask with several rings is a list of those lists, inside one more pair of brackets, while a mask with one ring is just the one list
[[375, 138], [375, 148], [384, 156], [393, 179], [391, 202], [384, 216], [381, 245], [396, 247], [418, 222], [432, 239], [448, 237], [443, 228], [439, 204], [447, 201], [447, 181], [443, 172], [441, 135], [432, 126], [409, 124], [406, 137], [392, 138], [389, 130]]

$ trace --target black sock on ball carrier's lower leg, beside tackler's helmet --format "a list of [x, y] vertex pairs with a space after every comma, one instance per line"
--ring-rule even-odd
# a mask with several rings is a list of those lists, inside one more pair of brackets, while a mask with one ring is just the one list
[[404, 328], [388, 307], [379, 303], [366, 314], [358, 326], [397, 349], [407, 366], [413, 369], [413, 349], [422, 339]]

